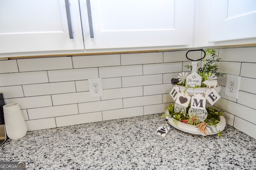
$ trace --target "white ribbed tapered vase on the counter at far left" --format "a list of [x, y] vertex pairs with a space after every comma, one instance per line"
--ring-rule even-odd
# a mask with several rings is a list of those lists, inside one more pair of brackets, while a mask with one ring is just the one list
[[27, 133], [27, 126], [20, 106], [16, 103], [11, 103], [4, 105], [3, 109], [7, 136], [12, 140], [24, 137]]

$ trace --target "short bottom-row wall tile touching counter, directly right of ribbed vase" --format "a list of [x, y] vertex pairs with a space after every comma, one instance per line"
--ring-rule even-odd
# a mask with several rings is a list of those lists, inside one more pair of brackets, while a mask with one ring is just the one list
[[46, 118], [46, 119], [36, 119], [25, 121], [28, 131], [36, 131], [40, 129], [50, 129], [56, 127], [55, 119]]

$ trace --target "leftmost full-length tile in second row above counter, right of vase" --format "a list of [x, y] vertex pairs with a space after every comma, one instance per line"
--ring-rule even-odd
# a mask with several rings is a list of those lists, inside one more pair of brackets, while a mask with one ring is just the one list
[[28, 109], [28, 117], [30, 120], [74, 114], [78, 114], [77, 104]]

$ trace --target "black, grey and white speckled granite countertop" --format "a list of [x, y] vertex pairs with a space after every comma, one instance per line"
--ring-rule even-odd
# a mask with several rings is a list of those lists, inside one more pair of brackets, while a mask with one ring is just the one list
[[26, 169], [256, 169], [256, 140], [230, 127], [217, 135], [192, 135], [171, 127], [154, 135], [160, 114], [30, 131], [1, 146], [1, 161], [26, 161]]

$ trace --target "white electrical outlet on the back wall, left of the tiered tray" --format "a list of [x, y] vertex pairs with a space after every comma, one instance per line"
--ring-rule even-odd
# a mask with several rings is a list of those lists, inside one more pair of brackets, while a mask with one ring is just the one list
[[88, 83], [91, 98], [103, 96], [101, 78], [89, 79]]

